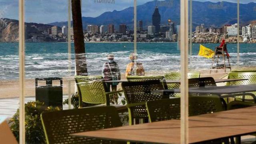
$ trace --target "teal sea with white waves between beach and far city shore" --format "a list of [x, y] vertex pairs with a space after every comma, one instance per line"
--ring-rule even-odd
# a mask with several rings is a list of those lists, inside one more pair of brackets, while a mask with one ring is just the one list
[[[218, 44], [203, 44], [214, 50]], [[193, 44], [189, 57], [190, 70], [209, 69], [212, 59], [197, 56], [199, 44]], [[108, 54], [114, 54], [122, 73], [130, 62], [133, 43], [85, 43], [89, 75], [100, 75]], [[228, 44], [232, 66], [237, 63], [237, 44]], [[138, 61], [146, 72], [180, 70], [180, 50], [177, 43], [138, 43]], [[72, 72], [68, 74], [68, 43], [26, 43], [26, 78], [74, 76], [74, 44], [72, 43]], [[256, 66], [256, 44], [240, 44], [240, 66]], [[18, 43], [0, 43], [0, 80], [19, 76]]]

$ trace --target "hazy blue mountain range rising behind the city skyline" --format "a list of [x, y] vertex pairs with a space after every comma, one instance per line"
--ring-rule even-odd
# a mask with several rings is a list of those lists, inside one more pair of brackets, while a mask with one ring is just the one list
[[[154, 0], [137, 6], [137, 20], [143, 21], [144, 29], [152, 24], [152, 14], [154, 8], [158, 6], [161, 15], [161, 24], [166, 24], [171, 19], [176, 25], [180, 24], [180, 0]], [[133, 29], [134, 7], [124, 10], [114, 10], [104, 12], [95, 18], [82, 17], [83, 28], [89, 24], [108, 25], [114, 24], [119, 28], [119, 24], [126, 24]], [[240, 23], [246, 25], [251, 20], [256, 20], [256, 3], [240, 4]], [[193, 28], [202, 23], [206, 27], [221, 27], [225, 24], [237, 22], [237, 4], [231, 2], [192, 2], [192, 24]], [[67, 22], [53, 22], [49, 25], [64, 26]]]

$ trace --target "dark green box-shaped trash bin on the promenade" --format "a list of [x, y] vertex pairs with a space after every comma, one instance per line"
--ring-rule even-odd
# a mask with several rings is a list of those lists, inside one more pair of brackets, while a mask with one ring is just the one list
[[[60, 86], [52, 86], [53, 80], [60, 80]], [[46, 81], [45, 86], [38, 86], [38, 81]], [[45, 106], [58, 106], [62, 109], [62, 78], [36, 78], [36, 100]]]

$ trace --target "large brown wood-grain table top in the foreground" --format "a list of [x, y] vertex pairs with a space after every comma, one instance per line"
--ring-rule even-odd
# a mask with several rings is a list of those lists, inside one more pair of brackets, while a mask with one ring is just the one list
[[[256, 106], [189, 117], [189, 143], [256, 132]], [[180, 143], [180, 120], [166, 120], [72, 134], [80, 137], [147, 142]]]

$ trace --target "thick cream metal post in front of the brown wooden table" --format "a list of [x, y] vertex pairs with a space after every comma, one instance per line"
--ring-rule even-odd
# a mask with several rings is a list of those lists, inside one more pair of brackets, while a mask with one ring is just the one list
[[180, 1], [180, 143], [188, 144], [188, 0]]

